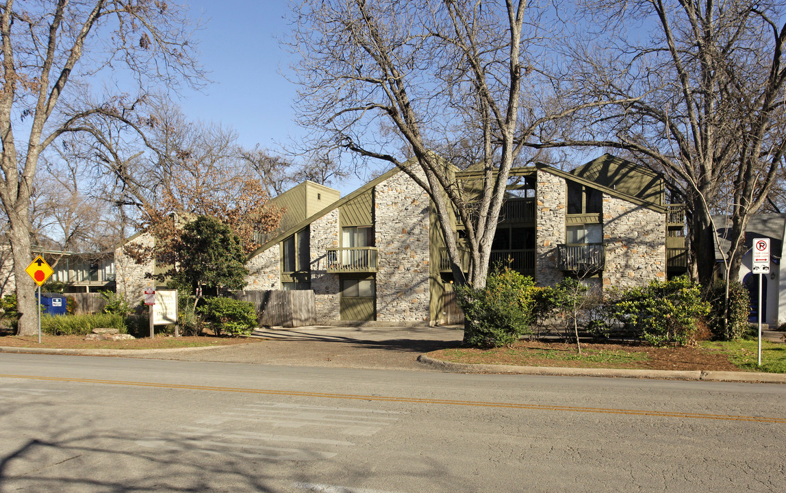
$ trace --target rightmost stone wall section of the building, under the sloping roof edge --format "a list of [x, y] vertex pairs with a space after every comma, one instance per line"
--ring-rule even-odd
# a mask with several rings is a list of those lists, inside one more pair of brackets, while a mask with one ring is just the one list
[[666, 215], [603, 195], [604, 286], [666, 279]]

